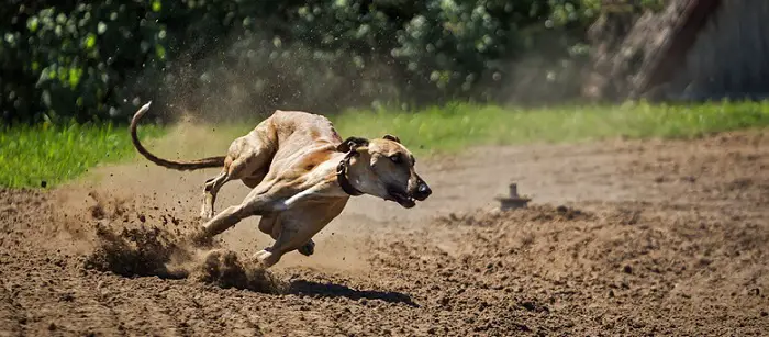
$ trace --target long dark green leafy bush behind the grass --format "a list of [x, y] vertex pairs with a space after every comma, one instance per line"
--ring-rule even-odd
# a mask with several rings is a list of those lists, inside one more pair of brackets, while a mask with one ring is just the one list
[[125, 121], [151, 99], [218, 116], [497, 100], [543, 32], [564, 32], [551, 59], [569, 56], [597, 10], [598, 0], [10, 0], [0, 110], [7, 123], [60, 123]]

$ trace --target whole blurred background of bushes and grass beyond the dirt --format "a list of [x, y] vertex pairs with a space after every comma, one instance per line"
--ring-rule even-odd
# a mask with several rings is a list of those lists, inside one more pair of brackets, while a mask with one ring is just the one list
[[169, 145], [182, 156], [276, 109], [420, 154], [762, 126], [765, 14], [760, 0], [9, 0], [0, 182], [132, 157], [123, 126], [148, 101], [142, 137], [215, 123], [219, 142]]

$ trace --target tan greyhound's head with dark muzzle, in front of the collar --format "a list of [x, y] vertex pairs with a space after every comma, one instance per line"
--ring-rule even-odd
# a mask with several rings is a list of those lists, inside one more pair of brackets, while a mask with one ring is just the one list
[[416, 204], [414, 200], [424, 201], [433, 193], [414, 170], [414, 156], [398, 137], [349, 137], [337, 149], [347, 153], [352, 146], [360, 156], [350, 167], [349, 175], [354, 176], [350, 178], [361, 192], [398, 202], [406, 209]]

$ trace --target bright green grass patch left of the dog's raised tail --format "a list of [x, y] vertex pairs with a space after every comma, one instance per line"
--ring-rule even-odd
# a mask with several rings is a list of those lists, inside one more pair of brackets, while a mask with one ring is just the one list
[[[158, 137], [160, 127], [143, 126], [141, 138]], [[0, 127], [0, 186], [56, 186], [101, 162], [134, 156], [127, 127], [112, 124]]]

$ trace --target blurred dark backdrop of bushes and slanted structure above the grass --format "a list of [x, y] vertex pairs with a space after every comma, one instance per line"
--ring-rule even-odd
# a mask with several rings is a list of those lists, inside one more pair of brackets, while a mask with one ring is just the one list
[[216, 120], [760, 97], [769, 4], [720, 3], [9, 0], [0, 111], [3, 123], [124, 122], [148, 100], [165, 119]]

